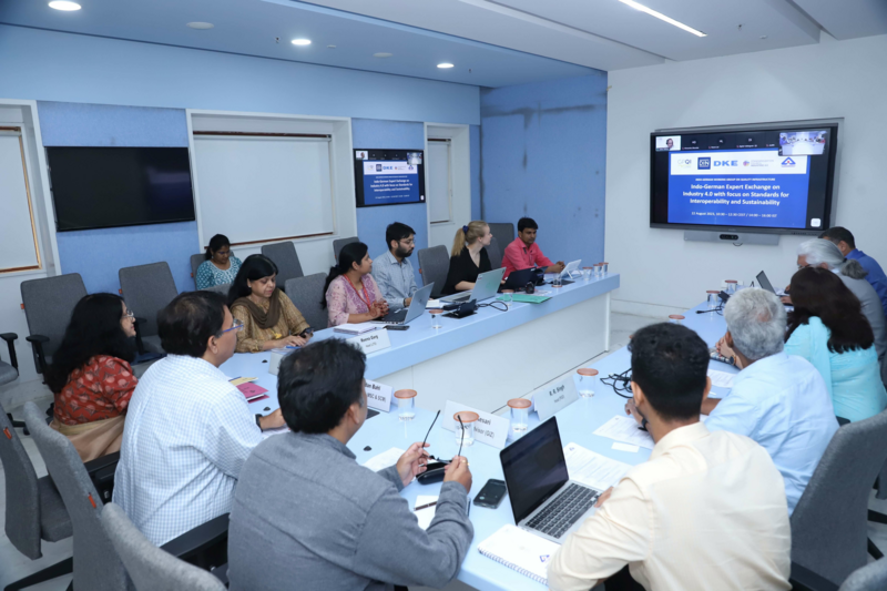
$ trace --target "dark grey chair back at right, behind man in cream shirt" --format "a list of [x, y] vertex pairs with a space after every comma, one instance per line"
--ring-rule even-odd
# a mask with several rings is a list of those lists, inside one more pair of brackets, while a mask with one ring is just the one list
[[868, 498], [887, 459], [887, 411], [838, 429], [792, 513], [792, 561], [840, 584], [868, 561]]

